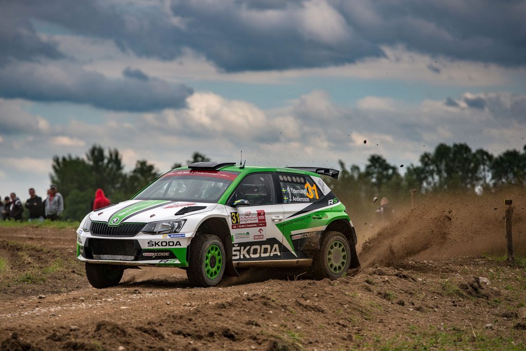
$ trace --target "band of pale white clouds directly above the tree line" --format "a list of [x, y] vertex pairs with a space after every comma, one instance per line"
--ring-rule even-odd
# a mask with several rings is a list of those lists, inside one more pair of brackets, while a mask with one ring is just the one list
[[48, 134], [28, 129], [22, 135], [5, 136], [0, 171], [7, 177], [0, 193], [25, 192], [15, 188], [16, 179], [47, 184], [53, 155], [84, 155], [94, 143], [119, 149], [126, 169], [137, 159], [146, 159], [161, 172], [175, 162], [184, 164], [195, 151], [215, 161], [238, 161], [242, 150], [247, 164], [336, 167], [338, 159], [363, 165], [371, 154], [381, 154], [393, 164], [417, 163], [419, 155], [439, 143], [465, 142], [493, 154], [522, 149], [526, 121], [515, 115], [524, 109], [515, 111], [515, 106], [523, 96], [462, 94], [455, 100], [465, 97], [484, 98], [486, 107], [452, 107], [432, 100], [405, 104], [375, 96], [356, 107], [343, 107], [326, 92], [313, 91], [287, 106], [264, 111], [244, 101], [198, 92], [187, 108], [177, 111], [107, 113], [102, 124], [72, 119], [50, 125]]

